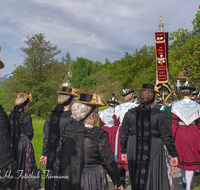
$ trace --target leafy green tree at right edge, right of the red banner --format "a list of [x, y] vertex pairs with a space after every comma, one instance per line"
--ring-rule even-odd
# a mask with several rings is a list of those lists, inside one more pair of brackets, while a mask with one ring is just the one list
[[200, 6], [193, 19], [193, 30], [178, 29], [170, 34], [169, 46], [170, 71], [178, 76], [180, 71], [189, 81], [200, 82]]

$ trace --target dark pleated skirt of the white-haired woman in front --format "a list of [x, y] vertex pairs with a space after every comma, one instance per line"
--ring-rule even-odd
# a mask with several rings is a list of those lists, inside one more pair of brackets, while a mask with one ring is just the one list
[[84, 166], [81, 176], [81, 190], [108, 190], [108, 181], [103, 166]]

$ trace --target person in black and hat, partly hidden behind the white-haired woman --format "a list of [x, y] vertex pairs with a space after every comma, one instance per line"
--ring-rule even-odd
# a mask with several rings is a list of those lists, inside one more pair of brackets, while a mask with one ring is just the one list
[[60, 94], [57, 100], [59, 104], [47, 116], [43, 128], [43, 152], [40, 162], [43, 165], [46, 164], [45, 189], [48, 190], [53, 190], [54, 187], [54, 179], [51, 176], [54, 176], [53, 163], [56, 159], [57, 147], [65, 129], [74, 121], [71, 117], [71, 106], [74, 97], [78, 96], [76, 90], [68, 87], [63, 87], [58, 93]]

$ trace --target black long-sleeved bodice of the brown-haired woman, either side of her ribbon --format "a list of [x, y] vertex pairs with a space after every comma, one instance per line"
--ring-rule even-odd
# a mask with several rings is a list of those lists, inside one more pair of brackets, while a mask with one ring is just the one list
[[[172, 129], [167, 121], [167, 116], [165, 113], [156, 108], [152, 108], [150, 110], [150, 123], [151, 137], [161, 138], [164, 144], [167, 146], [170, 155], [172, 157], [176, 157], [177, 150], [174, 146], [174, 140], [172, 138]], [[125, 114], [122, 122], [120, 129], [122, 154], [126, 154], [129, 135], [136, 135], [136, 108], [129, 110]]]

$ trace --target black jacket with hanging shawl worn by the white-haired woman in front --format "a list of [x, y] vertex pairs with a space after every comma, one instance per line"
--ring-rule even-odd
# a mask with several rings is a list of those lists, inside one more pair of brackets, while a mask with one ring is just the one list
[[54, 164], [58, 176], [67, 176], [60, 181], [58, 189], [80, 189], [84, 165], [102, 165], [114, 185], [119, 187], [121, 180], [118, 166], [114, 160], [107, 132], [99, 127], [85, 129], [84, 126], [79, 126], [71, 131], [69, 128], [63, 144], [59, 144]]

